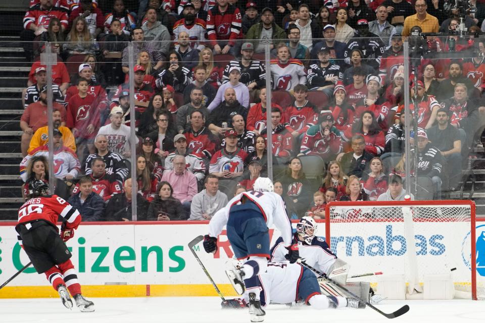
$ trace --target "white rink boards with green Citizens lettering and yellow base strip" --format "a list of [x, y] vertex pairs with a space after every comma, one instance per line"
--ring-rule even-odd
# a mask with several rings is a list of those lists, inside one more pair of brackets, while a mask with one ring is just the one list
[[[477, 229], [483, 229], [477, 223]], [[324, 235], [324, 223], [317, 234]], [[434, 230], [433, 230], [434, 231]], [[441, 234], [440, 228], [433, 234]], [[445, 231], [445, 230], [443, 230]], [[448, 230], [446, 230], [448, 231]], [[67, 242], [79, 272], [83, 293], [91, 297], [215, 296], [187, 243], [207, 233], [207, 222], [83, 223]], [[477, 230], [477, 236], [479, 236]], [[279, 234], [270, 230], [274, 242]], [[461, 241], [460, 241], [461, 242]], [[232, 257], [225, 231], [218, 252], [207, 254], [200, 243], [195, 251], [224, 295], [235, 295], [224, 273]], [[17, 242], [14, 224], [0, 225], [0, 284], [29, 262]], [[49, 297], [57, 293], [33, 267], [0, 290], [0, 298]]]

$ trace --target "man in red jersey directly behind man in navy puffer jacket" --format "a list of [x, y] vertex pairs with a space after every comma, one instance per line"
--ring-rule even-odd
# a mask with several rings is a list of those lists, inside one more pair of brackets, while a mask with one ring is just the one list
[[[95, 157], [91, 161], [92, 191], [107, 202], [114, 194], [122, 192], [121, 183], [115, 180], [115, 175], [106, 173], [106, 164], [103, 157]], [[79, 183], [72, 190], [72, 194], [79, 193]]]

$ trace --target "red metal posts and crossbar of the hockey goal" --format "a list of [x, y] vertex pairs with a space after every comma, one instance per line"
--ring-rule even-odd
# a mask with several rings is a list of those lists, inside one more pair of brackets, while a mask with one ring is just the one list
[[[476, 257], [476, 212], [475, 202], [472, 200], [425, 200], [425, 201], [332, 201], [325, 206], [325, 240], [330, 246], [330, 207], [331, 206], [355, 206], [355, 207], [369, 207], [369, 206], [453, 206], [453, 205], [469, 205], [470, 206], [470, 243], [471, 254]], [[376, 219], [377, 220], [377, 219]], [[376, 222], [371, 219], [363, 220], [362, 222]], [[476, 297], [476, 261], [471, 263], [471, 295], [474, 300]]]

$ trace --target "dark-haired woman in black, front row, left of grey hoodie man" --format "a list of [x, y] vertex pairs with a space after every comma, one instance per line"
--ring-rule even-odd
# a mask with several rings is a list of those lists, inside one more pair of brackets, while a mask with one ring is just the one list
[[169, 182], [160, 182], [158, 195], [150, 203], [147, 213], [148, 221], [177, 221], [186, 220], [182, 203], [173, 197], [173, 188]]

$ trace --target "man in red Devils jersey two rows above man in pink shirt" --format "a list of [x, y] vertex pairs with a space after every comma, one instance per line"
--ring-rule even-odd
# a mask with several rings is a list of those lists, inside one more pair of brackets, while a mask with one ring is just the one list
[[204, 126], [204, 115], [199, 110], [190, 114], [190, 128], [183, 135], [187, 139], [188, 148], [195, 154], [201, 154], [210, 159], [216, 151], [217, 138]]

